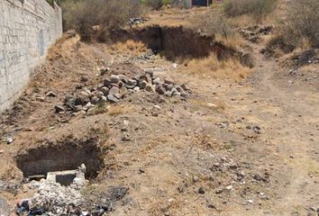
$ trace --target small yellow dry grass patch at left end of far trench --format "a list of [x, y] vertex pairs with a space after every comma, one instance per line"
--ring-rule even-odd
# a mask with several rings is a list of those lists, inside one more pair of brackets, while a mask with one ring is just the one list
[[130, 56], [140, 56], [142, 53], [148, 51], [148, 48], [141, 41], [126, 40], [125, 42], [118, 42], [111, 46], [115, 52], [120, 52]]

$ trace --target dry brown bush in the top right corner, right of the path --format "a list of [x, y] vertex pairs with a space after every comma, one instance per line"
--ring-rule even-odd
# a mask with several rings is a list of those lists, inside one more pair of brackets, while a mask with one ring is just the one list
[[319, 1], [295, 0], [279, 23], [278, 38], [294, 47], [319, 48]]

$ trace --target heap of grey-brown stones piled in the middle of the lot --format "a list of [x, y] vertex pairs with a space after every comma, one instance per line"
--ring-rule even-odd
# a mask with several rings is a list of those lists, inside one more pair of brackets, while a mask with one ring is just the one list
[[190, 90], [187, 85], [176, 85], [169, 79], [163, 81], [152, 72], [129, 78], [124, 75], [111, 75], [97, 87], [83, 87], [80, 92], [68, 95], [63, 105], [55, 106], [56, 112], [88, 112], [99, 103], [117, 103], [129, 94], [140, 91], [162, 94], [167, 97], [180, 96], [188, 98]]

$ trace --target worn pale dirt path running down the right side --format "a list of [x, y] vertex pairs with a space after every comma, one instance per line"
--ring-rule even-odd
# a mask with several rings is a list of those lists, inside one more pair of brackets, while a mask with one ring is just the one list
[[[318, 168], [317, 154], [319, 100], [318, 95], [304, 89], [293, 90], [288, 80], [278, 80], [278, 73], [287, 73], [274, 59], [265, 59], [256, 45], [254, 57], [259, 69], [253, 75], [253, 100], [261, 100], [279, 111], [263, 118], [268, 125], [272, 148], [278, 155], [286, 185], [278, 187], [278, 209], [304, 215], [309, 207], [317, 207]], [[286, 69], [287, 70], [287, 69]], [[255, 114], [255, 113], [254, 113]], [[257, 115], [262, 115], [256, 112]]]

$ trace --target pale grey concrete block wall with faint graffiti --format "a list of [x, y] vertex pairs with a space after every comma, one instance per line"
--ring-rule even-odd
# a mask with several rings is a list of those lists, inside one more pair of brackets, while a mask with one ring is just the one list
[[62, 12], [45, 0], [0, 0], [0, 112], [28, 84], [62, 35]]

